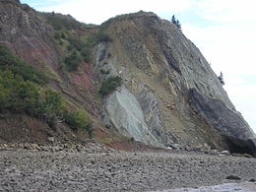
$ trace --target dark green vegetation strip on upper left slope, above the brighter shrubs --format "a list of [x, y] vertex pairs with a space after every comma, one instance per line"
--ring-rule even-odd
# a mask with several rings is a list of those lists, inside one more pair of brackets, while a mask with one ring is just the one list
[[20, 75], [24, 80], [28, 80], [39, 85], [45, 85], [46, 76], [25, 63], [17, 56], [13, 55], [5, 46], [0, 44], [0, 70], [11, 71], [14, 75]]

